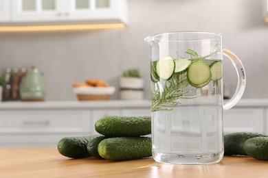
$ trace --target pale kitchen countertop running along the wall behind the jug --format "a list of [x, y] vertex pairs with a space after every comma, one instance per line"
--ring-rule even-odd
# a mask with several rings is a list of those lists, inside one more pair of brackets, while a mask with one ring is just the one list
[[[225, 100], [224, 102], [227, 102]], [[7, 101], [0, 102], [0, 110], [6, 109], [50, 109], [50, 108], [128, 108], [128, 107], [147, 107], [150, 108], [150, 100], [141, 101], [41, 101], [41, 102], [22, 102]], [[268, 107], [268, 99], [241, 99], [234, 107]]]

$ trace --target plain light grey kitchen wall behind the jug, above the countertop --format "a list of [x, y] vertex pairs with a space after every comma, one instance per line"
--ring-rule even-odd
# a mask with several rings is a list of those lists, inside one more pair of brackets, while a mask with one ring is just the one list
[[[268, 97], [268, 24], [262, 0], [129, 0], [124, 29], [0, 34], [0, 71], [35, 65], [45, 77], [47, 100], [74, 100], [71, 84], [100, 78], [118, 87], [122, 70], [137, 67], [150, 90], [150, 47], [146, 36], [165, 31], [223, 33], [223, 44], [246, 69], [244, 98]], [[225, 64], [226, 63], [226, 64]], [[235, 72], [225, 62], [225, 81], [236, 87]], [[118, 92], [113, 99], [118, 99]]]

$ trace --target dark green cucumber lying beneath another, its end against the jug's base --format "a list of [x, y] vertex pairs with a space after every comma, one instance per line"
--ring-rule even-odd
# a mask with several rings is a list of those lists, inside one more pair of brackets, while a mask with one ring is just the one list
[[98, 153], [107, 160], [135, 160], [152, 155], [149, 137], [107, 138], [98, 145]]

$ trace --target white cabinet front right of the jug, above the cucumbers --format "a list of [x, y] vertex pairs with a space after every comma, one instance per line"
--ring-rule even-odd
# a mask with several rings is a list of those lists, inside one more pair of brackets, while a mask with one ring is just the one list
[[223, 112], [224, 133], [250, 131], [265, 133], [265, 109], [233, 107]]

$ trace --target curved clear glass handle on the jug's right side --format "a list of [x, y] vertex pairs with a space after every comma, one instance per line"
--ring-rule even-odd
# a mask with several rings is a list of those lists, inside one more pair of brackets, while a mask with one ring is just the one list
[[246, 75], [245, 68], [241, 60], [239, 60], [239, 58], [234, 53], [232, 53], [232, 51], [223, 47], [223, 55], [230, 59], [234, 65], [234, 68], [236, 68], [236, 74], [238, 77], [236, 92], [234, 92], [234, 96], [223, 105], [223, 110], [229, 110], [231, 107], [236, 105], [236, 103], [238, 103], [245, 91]]

